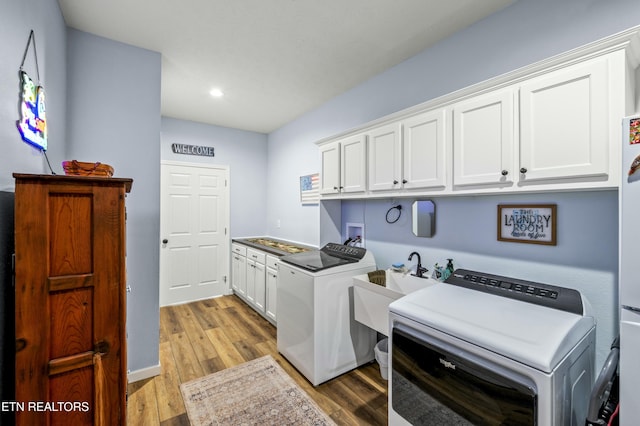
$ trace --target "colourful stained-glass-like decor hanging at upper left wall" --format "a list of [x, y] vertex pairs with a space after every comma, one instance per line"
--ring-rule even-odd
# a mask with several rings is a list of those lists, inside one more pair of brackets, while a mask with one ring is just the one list
[[[33, 43], [33, 54], [36, 63], [37, 84], [29, 77], [22, 67], [24, 66], [29, 47]], [[44, 87], [40, 85], [40, 70], [38, 69], [38, 53], [36, 51], [36, 40], [31, 30], [27, 47], [22, 56], [20, 64], [20, 119], [17, 121], [18, 131], [22, 140], [34, 147], [47, 150], [47, 120], [45, 108]]]

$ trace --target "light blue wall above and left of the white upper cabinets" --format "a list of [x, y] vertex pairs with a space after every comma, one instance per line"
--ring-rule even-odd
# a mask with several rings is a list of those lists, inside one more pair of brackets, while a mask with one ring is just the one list
[[636, 8], [636, 0], [519, 0], [272, 132], [267, 232], [320, 240], [317, 208], [292, 197], [298, 176], [319, 171], [314, 142], [639, 25]]

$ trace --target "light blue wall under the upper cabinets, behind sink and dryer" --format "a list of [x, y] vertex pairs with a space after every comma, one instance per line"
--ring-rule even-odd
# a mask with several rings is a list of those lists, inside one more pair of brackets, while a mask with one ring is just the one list
[[[412, 199], [342, 202], [344, 224], [365, 223], [365, 243], [379, 268], [408, 261], [417, 251], [423, 266], [453, 258], [456, 268], [571, 287], [590, 301], [598, 320], [599, 360], [604, 361], [617, 334], [618, 193], [617, 191], [441, 197], [436, 204], [436, 232], [415, 237], [411, 230]], [[398, 222], [388, 224], [387, 210], [402, 205]], [[498, 204], [556, 204], [557, 245], [497, 240]], [[345, 238], [346, 239], [346, 238]]]

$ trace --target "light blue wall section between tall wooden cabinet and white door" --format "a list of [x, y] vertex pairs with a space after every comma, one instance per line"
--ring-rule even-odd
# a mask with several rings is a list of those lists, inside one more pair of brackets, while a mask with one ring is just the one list
[[133, 178], [127, 197], [128, 368], [159, 364], [160, 68], [157, 52], [68, 30], [69, 158]]

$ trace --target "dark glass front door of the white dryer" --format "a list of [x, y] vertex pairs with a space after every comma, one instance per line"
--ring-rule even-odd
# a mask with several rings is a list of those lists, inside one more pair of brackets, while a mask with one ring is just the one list
[[411, 424], [536, 424], [533, 381], [404, 324], [392, 341], [391, 404]]

